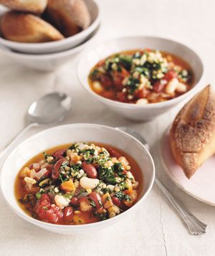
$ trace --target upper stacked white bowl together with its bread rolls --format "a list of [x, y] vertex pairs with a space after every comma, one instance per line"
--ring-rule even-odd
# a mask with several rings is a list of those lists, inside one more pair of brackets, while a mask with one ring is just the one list
[[77, 47], [95, 32], [100, 11], [94, 0], [0, 0], [0, 45], [26, 54]]

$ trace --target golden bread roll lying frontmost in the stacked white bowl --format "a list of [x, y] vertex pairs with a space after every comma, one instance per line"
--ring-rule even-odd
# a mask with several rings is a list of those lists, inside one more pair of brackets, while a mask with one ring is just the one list
[[0, 30], [5, 39], [15, 42], [51, 42], [64, 38], [57, 29], [38, 16], [16, 11], [6, 12], [1, 17]]

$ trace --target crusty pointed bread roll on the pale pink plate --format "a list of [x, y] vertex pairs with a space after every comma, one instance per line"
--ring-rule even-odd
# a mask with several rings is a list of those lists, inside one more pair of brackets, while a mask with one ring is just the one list
[[215, 93], [208, 85], [176, 116], [171, 148], [188, 179], [215, 153]]

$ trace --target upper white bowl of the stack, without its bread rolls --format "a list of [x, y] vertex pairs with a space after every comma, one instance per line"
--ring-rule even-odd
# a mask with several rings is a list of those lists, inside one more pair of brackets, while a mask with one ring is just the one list
[[[92, 32], [97, 29], [100, 24], [100, 9], [94, 0], [85, 0], [87, 8], [90, 12], [92, 19], [90, 27], [83, 30], [82, 32], [75, 34], [72, 37], [67, 37], [65, 39], [54, 41], [54, 42], [44, 42], [44, 43], [22, 43], [22, 42], [12, 42], [0, 37], [0, 44], [5, 47], [9, 47], [17, 52], [33, 53], [33, 54], [46, 54], [52, 52], [61, 52], [72, 47], [76, 47], [78, 44], [84, 42], [87, 37], [92, 34]], [[0, 13], [4, 13], [5, 8], [1, 7]]]

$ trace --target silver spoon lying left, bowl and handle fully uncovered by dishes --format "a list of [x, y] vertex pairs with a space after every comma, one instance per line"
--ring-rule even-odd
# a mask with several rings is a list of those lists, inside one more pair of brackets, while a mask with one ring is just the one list
[[19, 141], [20, 138], [29, 131], [30, 128], [38, 125], [47, 125], [63, 120], [65, 115], [71, 108], [71, 98], [65, 93], [49, 93], [44, 95], [37, 101], [30, 105], [27, 118], [29, 125], [27, 125], [17, 136], [14, 138], [4, 151], [0, 153], [0, 158], [6, 155], [11, 148]]

